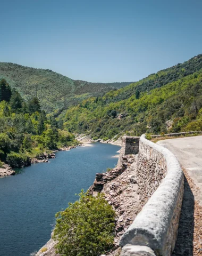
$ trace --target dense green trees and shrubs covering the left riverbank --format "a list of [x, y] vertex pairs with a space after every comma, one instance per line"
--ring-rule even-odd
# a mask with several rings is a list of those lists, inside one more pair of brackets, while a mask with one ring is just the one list
[[67, 130], [61, 130], [54, 117], [47, 118], [37, 97], [24, 101], [15, 89], [0, 81], [0, 160], [12, 167], [30, 164], [30, 157], [45, 150], [76, 145]]

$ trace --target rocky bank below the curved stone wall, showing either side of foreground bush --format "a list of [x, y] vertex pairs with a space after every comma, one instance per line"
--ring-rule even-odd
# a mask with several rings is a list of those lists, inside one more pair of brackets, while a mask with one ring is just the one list
[[[122, 162], [106, 173], [97, 173], [89, 194], [96, 196], [98, 192], [105, 198], [116, 212], [116, 227], [113, 249], [107, 256], [120, 254], [119, 241], [125, 230], [131, 225], [137, 213], [141, 210], [141, 200], [137, 194], [136, 182], [137, 155], [122, 157]], [[36, 256], [60, 256], [55, 253], [56, 242], [51, 238]]]

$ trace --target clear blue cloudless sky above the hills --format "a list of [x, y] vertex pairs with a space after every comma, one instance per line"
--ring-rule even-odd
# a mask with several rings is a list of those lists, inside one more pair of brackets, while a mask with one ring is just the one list
[[201, 0], [0, 0], [0, 61], [131, 82], [202, 53]]

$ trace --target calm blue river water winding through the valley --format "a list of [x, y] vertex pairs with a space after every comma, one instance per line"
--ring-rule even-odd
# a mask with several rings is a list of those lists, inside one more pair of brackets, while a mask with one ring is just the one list
[[114, 167], [118, 146], [94, 143], [56, 153], [49, 163], [37, 163], [0, 179], [0, 255], [29, 256], [50, 238], [55, 213], [87, 190], [97, 172]]

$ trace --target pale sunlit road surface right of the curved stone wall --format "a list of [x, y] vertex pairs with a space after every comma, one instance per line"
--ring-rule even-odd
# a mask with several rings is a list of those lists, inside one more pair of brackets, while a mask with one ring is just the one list
[[202, 136], [168, 139], [157, 142], [178, 158], [195, 185], [200, 189], [196, 199], [202, 205]]

